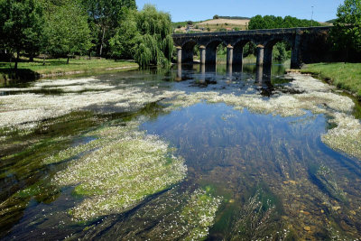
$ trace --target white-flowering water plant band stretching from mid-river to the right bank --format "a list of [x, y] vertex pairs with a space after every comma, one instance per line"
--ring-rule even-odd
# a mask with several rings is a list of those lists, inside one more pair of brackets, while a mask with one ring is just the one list
[[292, 74], [293, 79], [288, 88], [298, 89], [301, 94], [282, 94], [264, 98], [259, 94], [236, 96], [218, 92], [197, 92], [190, 95], [178, 95], [171, 100], [164, 100], [171, 105], [168, 110], [190, 107], [201, 101], [208, 103], [226, 103], [237, 110], [247, 108], [261, 114], [279, 116], [304, 116], [307, 111], [333, 117], [330, 123], [337, 125], [322, 141], [331, 148], [343, 151], [361, 159], [361, 124], [352, 116], [355, 103], [349, 97], [331, 92], [332, 87], [307, 75]]

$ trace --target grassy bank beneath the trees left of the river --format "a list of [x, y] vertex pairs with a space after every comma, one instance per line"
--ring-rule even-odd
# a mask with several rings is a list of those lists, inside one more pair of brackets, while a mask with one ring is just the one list
[[41, 59], [35, 59], [29, 62], [23, 59], [18, 65], [18, 76], [14, 76], [14, 63], [0, 62], [0, 80], [22, 79], [39, 77], [79, 74], [84, 72], [97, 72], [103, 70], [129, 70], [138, 68], [138, 64], [125, 60], [105, 60], [105, 59], [79, 59], [70, 60], [67, 64], [66, 59], [45, 60], [45, 65]]

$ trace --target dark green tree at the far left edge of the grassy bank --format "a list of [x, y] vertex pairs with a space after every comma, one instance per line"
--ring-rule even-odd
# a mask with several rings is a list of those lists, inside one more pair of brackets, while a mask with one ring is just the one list
[[43, 24], [42, 5], [36, 0], [0, 1], [0, 38], [7, 51], [16, 52], [15, 70], [21, 51], [31, 56], [39, 51]]

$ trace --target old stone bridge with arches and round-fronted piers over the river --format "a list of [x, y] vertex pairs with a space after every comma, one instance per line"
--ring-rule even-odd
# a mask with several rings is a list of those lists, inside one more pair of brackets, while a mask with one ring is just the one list
[[254, 42], [256, 63], [259, 66], [272, 64], [273, 46], [277, 42], [288, 42], [292, 46], [291, 68], [300, 69], [302, 63], [329, 60], [328, 43], [331, 27], [252, 30], [237, 32], [201, 32], [172, 34], [177, 48], [177, 62], [193, 61], [193, 51], [199, 46], [200, 63], [215, 64], [219, 44], [227, 46], [227, 64], [242, 64], [243, 48]]

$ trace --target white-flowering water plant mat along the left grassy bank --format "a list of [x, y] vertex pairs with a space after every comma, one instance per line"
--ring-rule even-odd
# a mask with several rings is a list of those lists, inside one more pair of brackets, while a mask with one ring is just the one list
[[[131, 84], [126, 85], [127, 88], [123, 87], [125, 87], [123, 83], [111, 86], [97, 79], [60, 79], [37, 82], [34, 87], [25, 89], [60, 88], [69, 93], [63, 95], [22, 93], [0, 96], [0, 102], [4, 104], [0, 109], [0, 128], [14, 126], [34, 128], [37, 126], [37, 122], [79, 110], [97, 113], [129, 112], [144, 107], [148, 103], [180, 94], [177, 91], [158, 89], [149, 91]], [[24, 88], [15, 89], [26, 92]], [[92, 91], [77, 92], [86, 89]]]

